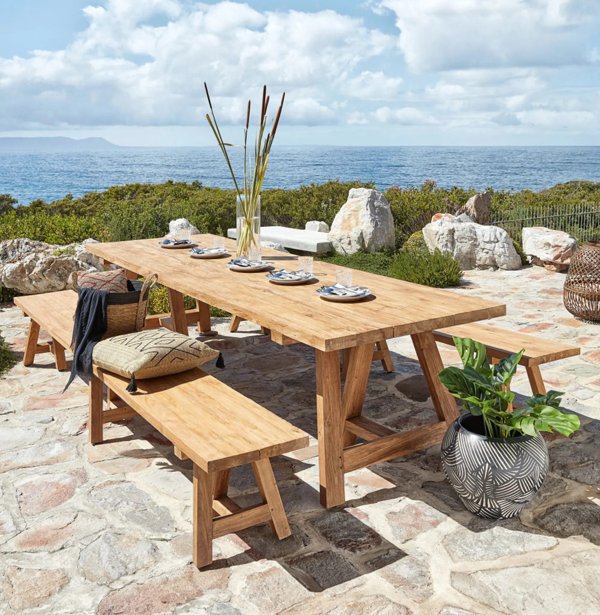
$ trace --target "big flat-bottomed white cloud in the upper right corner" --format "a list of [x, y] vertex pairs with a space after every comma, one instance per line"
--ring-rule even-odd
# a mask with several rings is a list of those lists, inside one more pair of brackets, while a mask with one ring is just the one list
[[588, 62], [596, 0], [381, 0], [416, 72]]

